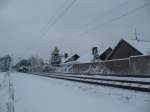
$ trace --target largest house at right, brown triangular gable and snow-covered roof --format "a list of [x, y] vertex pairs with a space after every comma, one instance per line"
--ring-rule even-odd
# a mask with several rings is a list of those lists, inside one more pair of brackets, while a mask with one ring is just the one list
[[112, 52], [108, 55], [107, 60], [129, 58], [130, 56], [146, 55], [150, 52], [150, 43], [136, 40], [121, 39]]

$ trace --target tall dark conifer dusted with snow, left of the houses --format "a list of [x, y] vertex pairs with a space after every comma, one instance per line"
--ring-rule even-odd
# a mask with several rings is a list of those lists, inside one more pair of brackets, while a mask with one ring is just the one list
[[54, 48], [54, 50], [52, 51], [52, 53], [51, 53], [51, 65], [52, 66], [56, 66], [56, 67], [58, 67], [58, 66], [60, 66], [60, 64], [61, 64], [61, 55], [60, 55], [60, 53], [59, 53], [60, 51], [59, 51], [59, 49], [58, 49], [58, 47], [55, 47]]

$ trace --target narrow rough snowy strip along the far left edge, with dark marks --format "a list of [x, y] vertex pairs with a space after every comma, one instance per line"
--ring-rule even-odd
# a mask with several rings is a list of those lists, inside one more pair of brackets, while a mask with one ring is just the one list
[[14, 91], [10, 72], [0, 73], [0, 112], [14, 112]]

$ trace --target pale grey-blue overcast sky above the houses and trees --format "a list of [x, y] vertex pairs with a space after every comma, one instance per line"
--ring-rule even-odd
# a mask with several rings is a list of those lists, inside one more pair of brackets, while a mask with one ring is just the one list
[[149, 0], [76, 0], [64, 12], [71, 1], [0, 0], [0, 56], [48, 58], [54, 46], [85, 54], [102, 42], [113, 47], [120, 38], [134, 38], [135, 28], [150, 40], [150, 6], [109, 22]]

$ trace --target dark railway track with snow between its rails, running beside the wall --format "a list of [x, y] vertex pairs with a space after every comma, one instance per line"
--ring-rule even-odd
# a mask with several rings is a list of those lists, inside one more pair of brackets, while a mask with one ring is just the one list
[[[76, 81], [88, 84], [95, 84], [95, 85], [103, 85], [103, 86], [110, 86], [122, 89], [129, 89], [129, 90], [136, 90], [142, 92], [150, 92], [150, 78], [137, 78], [135, 77], [134, 80], [131, 80], [130, 77], [107, 77], [107, 76], [89, 76], [89, 75], [71, 75], [71, 74], [61, 74], [61, 73], [34, 73], [34, 75], [40, 75], [44, 77], [51, 77], [69, 81]], [[128, 79], [127, 79], [128, 78]], [[130, 80], [129, 80], [130, 79]], [[145, 80], [144, 80], [145, 79]]]

